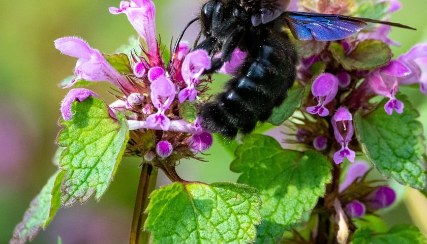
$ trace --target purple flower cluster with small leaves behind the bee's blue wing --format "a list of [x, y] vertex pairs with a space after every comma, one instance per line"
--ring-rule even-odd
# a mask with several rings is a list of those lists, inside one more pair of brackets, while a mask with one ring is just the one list
[[[396, 0], [377, 1], [379, 3], [388, 4], [384, 19], [401, 7]], [[309, 9], [319, 13], [350, 15], [354, 4], [342, 1], [335, 6], [300, 1], [299, 8], [301, 11]], [[388, 99], [384, 105], [387, 114], [392, 115], [394, 111], [403, 113], [404, 103], [396, 98], [399, 85], [403, 84], [419, 83], [421, 92], [427, 95], [427, 44], [418, 44], [406, 54], [383, 63], [370, 63], [370, 57], [365, 56], [371, 52], [370, 48], [383, 49], [372, 57], [392, 55], [388, 46], [399, 43], [387, 37], [389, 31], [389, 25], [379, 25], [344, 40], [299, 42], [302, 57], [297, 82], [303, 86], [311, 84], [311, 94], [300, 109], [302, 123], [292, 124], [297, 129], [296, 142], [323, 151], [325, 155], [333, 155], [335, 164], [342, 163], [345, 158], [354, 162], [356, 152], [360, 150], [357, 143], [352, 143], [356, 142], [353, 138], [356, 111], [368, 114], [375, 110], [377, 104], [370, 100], [379, 95]], [[362, 58], [366, 59], [365, 63], [358, 64]]]

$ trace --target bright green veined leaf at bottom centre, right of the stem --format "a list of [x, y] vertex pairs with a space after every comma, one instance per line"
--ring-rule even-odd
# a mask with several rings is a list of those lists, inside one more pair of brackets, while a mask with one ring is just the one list
[[247, 186], [175, 182], [151, 193], [145, 229], [153, 243], [250, 243], [260, 204]]

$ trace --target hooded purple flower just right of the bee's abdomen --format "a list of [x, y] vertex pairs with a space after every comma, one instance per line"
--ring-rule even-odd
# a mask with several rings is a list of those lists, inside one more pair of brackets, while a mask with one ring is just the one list
[[329, 73], [319, 75], [312, 85], [312, 94], [317, 99], [318, 104], [308, 107], [307, 112], [311, 114], [318, 113], [322, 117], [329, 115], [329, 110], [325, 108], [325, 105], [333, 100], [337, 92], [337, 77]]

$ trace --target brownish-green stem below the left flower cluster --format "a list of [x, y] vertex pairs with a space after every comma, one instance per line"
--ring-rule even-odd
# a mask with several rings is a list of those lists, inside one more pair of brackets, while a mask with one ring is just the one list
[[156, 188], [156, 181], [157, 168], [143, 163], [136, 193], [129, 244], [149, 243], [150, 232], [142, 230], [142, 226], [147, 219], [147, 214], [144, 213], [144, 210], [148, 205], [148, 196]]

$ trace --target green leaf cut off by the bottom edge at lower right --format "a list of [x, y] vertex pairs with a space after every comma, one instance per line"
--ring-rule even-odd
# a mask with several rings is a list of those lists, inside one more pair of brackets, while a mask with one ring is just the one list
[[360, 228], [354, 232], [353, 244], [425, 244], [425, 237], [415, 226], [402, 224], [392, 227], [382, 234], [373, 234], [369, 228]]

